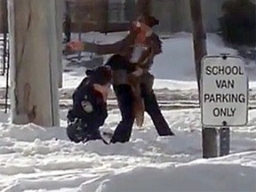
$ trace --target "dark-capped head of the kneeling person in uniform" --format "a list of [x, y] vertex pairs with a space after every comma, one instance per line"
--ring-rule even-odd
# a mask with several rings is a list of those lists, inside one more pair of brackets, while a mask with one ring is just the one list
[[112, 71], [108, 66], [88, 69], [85, 74], [89, 77], [91, 84], [109, 86], [112, 82]]

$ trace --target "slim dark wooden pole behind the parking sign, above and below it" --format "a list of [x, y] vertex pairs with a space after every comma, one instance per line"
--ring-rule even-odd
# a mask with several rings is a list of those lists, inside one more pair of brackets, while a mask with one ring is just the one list
[[[198, 84], [199, 97], [201, 97], [201, 60], [207, 55], [206, 33], [204, 30], [201, 0], [190, 0], [190, 12], [193, 24], [193, 42], [196, 64], [196, 80]], [[218, 156], [217, 148], [217, 130], [216, 128], [205, 128], [202, 130], [203, 157]]]

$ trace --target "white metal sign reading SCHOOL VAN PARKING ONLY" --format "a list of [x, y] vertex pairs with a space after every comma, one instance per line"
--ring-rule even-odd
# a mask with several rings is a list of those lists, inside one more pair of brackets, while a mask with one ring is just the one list
[[201, 115], [204, 126], [243, 126], [248, 119], [248, 77], [235, 56], [202, 60]]

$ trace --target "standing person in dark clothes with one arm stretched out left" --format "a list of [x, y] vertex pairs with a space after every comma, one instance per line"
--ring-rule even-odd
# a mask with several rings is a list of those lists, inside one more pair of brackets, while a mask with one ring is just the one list
[[[107, 64], [112, 68], [115, 66], [113, 68], [113, 87], [122, 120], [116, 127], [111, 140], [112, 143], [127, 142], [131, 138], [132, 125], [135, 119], [133, 110], [134, 90], [129, 84], [129, 77], [131, 76], [140, 81], [140, 96], [143, 98], [145, 110], [153, 120], [157, 133], [160, 136], [174, 135], [157, 104], [156, 95], [152, 88], [154, 76], [149, 73], [155, 56], [162, 52], [160, 38], [149, 29], [156, 24], [158, 24], [158, 20], [155, 18], [142, 16], [132, 23], [128, 36], [115, 44], [92, 44], [87, 42], [71, 42], [68, 44], [69, 49], [73, 51], [96, 52], [98, 54], [115, 53]], [[146, 26], [146, 30], [143, 31], [141, 26]], [[128, 64], [124, 65], [124, 63]], [[120, 66], [118, 67], [118, 65]], [[128, 68], [126, 68], [127, 66]]]

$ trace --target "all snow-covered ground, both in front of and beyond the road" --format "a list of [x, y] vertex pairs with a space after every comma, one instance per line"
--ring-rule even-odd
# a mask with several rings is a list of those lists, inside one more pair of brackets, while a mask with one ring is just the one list
[[[123, 36], [124, 33], [89, 34], [84, 39], [96, 38], [105, 43]], [[147, 115], [142, 130], [134, 126], [129, 143], [75, 144], [65, 132], [67, 108], [60, 111], [60, 127], [13, 125], [10, 114], [0, 110], [0, 191], [255, 191], [256, 109], [249, 111], [247, 126], [231, 129], [229, 156], [202, 159], [200, 109], [192, 108], [198, 100], [191, 36], [180, 33], [170, 37], [164, 39], [164, 52], [156, 57], [152, 73], [156, 75], [157, 99], [175, 137], [158, 137]], [[210, 54], [236, 54], [212, 34], [208, 35], [207, 45]], [[248, 61], [246, 66], [250, 101], [256, 106], [256, 64]], [[64, 103], [70, 102], [70, 94], [84, 76], [84, 68], [65, 69], [64, 86], [60, 89]], [[0, 76], [0, 99], [4, 98], [4, 85], [4, 77]], [[115, 102], [112, 97], [109, 103]], [[188, 108], [169, 110], [164, 105]], [[109, 110], [103, 128], [114, 130], [119, 120], [118, 109]]]

